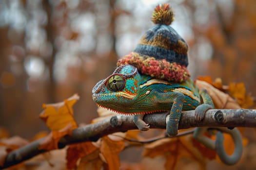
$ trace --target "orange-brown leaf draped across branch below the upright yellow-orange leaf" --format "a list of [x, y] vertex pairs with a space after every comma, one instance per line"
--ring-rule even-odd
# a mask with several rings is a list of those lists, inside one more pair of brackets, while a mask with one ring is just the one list
[[47, 151], [59, 149], [59, 139], [65, 135], [72, 135], [71, 124], [68, 124], [66, 127], [60, 129], [59, 131], [52, 131], [48, 136], [39, 142], [39, 149], [44, 149]]

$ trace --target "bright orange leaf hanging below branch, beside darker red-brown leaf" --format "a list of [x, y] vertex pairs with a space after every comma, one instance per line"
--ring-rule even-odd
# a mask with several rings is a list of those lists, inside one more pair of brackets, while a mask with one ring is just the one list
[[111, 140], [108, 136], [101, 138], [100, 153], [106, 160], [109, 170], [119, 170], [119, 153], [124, 149], [123, 141]]

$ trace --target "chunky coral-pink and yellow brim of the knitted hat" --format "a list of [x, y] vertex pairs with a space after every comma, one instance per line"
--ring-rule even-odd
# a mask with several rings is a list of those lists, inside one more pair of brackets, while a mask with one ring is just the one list
[[118, 67], [127, 64], [135, 66], [142, 74], [176, 83], [184, 82], [190, 77], [186, 66], [170, 63], [166, 59], [156, 60], [154, 57], [141, 56], [137, 52], [125, 55], [117, 63]]

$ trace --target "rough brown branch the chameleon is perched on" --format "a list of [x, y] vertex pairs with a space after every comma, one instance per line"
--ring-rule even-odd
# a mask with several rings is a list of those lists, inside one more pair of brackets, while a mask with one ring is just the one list
[[[150, 124], [151, 128], [165, 129], [165, 118], [168, 113], [148, 114], [144, 116], [144, 121]], [[193, 127], [256, 127], [256, 110], [253, 109], [212, 109], [208, 110], [202, 121], [195, 119], [195, 111], [182, 112], [179, 129]], [[126, 132], [137, 129], [132, 120], [132, 116], [118, 115], [104, 119], [94, 124], [73, 130], [72, 136], [64, 136], [59, 140], [59, 149], [66, 145], [85, 142], [97, 141], [100, 137], [115, 132]], [[8, 168], [22, 161], [32, 158], [46, 150], [39, 149], [39, 142], [31, 142], [6, 156], [3, 166], [0, 169]]]

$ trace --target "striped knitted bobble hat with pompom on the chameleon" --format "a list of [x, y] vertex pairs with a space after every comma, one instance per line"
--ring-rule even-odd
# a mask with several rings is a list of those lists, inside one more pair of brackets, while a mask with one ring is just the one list
[[130, 64], [142, 74], [174, 82], [184, 82], [190, 77], [188, 45], [169, 25], [174, 13], [169, 4], [159, 4], [153, 12], [156, 24], [141, 38], [134, 52], [118, 60], [117, 65]]

